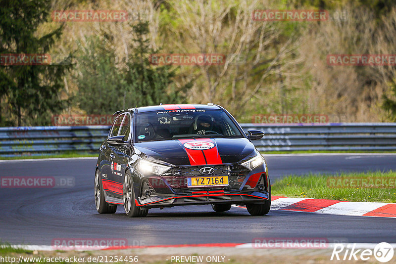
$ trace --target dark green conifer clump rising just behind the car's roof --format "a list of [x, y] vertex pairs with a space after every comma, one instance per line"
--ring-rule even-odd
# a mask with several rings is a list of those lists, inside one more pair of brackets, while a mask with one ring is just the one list
[[148, 44], [148, 22], [133, 26], [132, 54], [120, 69], [115, 51], [105, 37], [94, 37], [79, 56], [79, 92], [76, 99], [87, 114], [112, 114], [117, 110], [167, 103], [186, 103], [184, 93], [192, 83], [176, 88], [176, 69], [154, 66], [149, 62], [155, 53]]

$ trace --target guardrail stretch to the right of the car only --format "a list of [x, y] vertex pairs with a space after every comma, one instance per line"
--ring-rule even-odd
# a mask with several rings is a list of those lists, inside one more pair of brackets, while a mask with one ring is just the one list
[[330, 123], [328, 125], [243, 124], [264, 132], [253, 141], [260, 151], [396, 150], [396, 123]]

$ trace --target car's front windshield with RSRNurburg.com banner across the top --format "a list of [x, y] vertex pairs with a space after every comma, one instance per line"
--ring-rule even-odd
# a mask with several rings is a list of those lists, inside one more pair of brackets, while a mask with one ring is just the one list
[[242, 137], [222, 110], [185, 109], [138, 113], [135, 142], [199, 137]]

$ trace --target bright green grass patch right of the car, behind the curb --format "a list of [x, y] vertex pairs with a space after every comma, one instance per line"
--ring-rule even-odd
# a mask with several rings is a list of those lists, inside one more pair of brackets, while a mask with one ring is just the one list
[[[376, 180], [378, 184], [376, 184]], [[272, 195], [276, 196], [396, 203], [395, 180], [396, 172], [394, 171], [338, 175], [291, 175], [277, 180], [271, 188]], [[362, 181], [366, 183], [364, 187], [358, 184]], [[354, 184], [346, 184], [350, 182], [354, 182]], [[350, 187], [350, 185], [355, 187]]]

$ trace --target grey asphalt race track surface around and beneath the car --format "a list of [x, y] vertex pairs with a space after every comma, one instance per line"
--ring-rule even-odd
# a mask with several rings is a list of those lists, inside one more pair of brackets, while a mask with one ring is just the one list
[[[267, 155], [270, 177], [289, 174], [396, 170], [396, 154]], [[0, 239], [11, 244], [51, 245], [56, 238], [126, 238], [129, 245], [250, 243], [258, 237], [342, 238], [347, 242], [396, 242], [396, 219], [270, 211], [251, 217], [233, 207], [152, 209], [126, 217], [122, 206], [99, 215], [94, 204], [96, 159], [2, 161], [0, 176], [71, 176], [72, 188], [0, 188]]]

